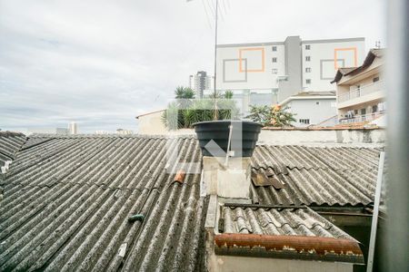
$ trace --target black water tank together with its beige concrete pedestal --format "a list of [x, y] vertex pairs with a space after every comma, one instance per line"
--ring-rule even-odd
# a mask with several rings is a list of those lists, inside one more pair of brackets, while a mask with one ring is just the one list
[[202, 194], [224, 201], [251, 201], [251, 156], [260, 130], [261, 125], [253, 121], [195, 124], [204, 155]]

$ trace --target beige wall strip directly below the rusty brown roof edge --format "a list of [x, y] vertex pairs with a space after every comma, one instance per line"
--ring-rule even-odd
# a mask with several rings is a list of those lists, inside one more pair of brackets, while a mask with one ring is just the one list
[[210, 264], [210, 271], [328, 271], [328, 272], [349, 272], [353, 271], [354, 265], [348, 263], [333, 263], [307, 260], [291, 260], [262, 257], [236, 257], [219, 256], [214, 257], [214, 262]]

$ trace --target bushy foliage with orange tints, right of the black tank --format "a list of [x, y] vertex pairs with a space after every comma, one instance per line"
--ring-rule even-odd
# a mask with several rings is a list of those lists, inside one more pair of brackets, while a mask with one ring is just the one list
[[288, 107], [282, 108], [280, 105], [250, 106], [250, 114], [246, 118], [259, 122], [264, 126], [285, 127], [292, 126], [295, 121], [294, 113], [288, 112]]

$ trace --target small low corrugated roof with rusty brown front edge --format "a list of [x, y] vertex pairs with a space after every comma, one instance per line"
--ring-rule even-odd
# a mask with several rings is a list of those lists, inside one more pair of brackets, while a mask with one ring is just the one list
[[222, 214], [216, 254], [364, 263], [358, 242], [312, 209], [224, 207]]

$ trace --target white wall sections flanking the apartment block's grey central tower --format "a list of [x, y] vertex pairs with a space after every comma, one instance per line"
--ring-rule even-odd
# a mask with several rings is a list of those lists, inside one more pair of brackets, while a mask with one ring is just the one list
[[[305, 45], [310, 45], [310, 50], [305, 50]], [[277, 51], [273, 52], [272, 47], [276, 46]], [[330, 82], [334, 79], [336, 69], [334, 66], [334, 53], [336, 49], [337, 59], [344, 60], [338, 63], [338, 67], [359, 66], [364, 62], [364, 41], [363, 40], [322, 40], [304, 41], [300, 44], [302, 59], [300, 60], [300, 70], [303, 74], [303, 88], [305, 91], [331, 91], [335, 85]], [[354, 50], [342, 50], [354, 48]], [[247, 78], [245, 72], [239, 71], [240, 50], [242, 59], [247, 61]], [[262, 69], [262, 53], [264, 51], [264, 71], [252, 72], [252, 70]], [[356, 61], [354, 53], [356, 52]], [[310, 56], [311, 61], [306, 62], [305, 56]], [[272, 63], [272, 58], [277, 58], [277, 63]], [[235, 60], [235, 61], [233, 61]], [[322, 64], [321, 61], [324, 61]], [[226, 61], [226, 62], [224, 62]], [[244, 70], [244, 61], [242, 61]], [[285, 74], [285, 47], [284, 42], [268, 44], [234, 44], [219, 45], [217, 47], [217, 89], [219, 90], [271, 90], [278, 88], [277, 76]], [[323, 65], [323, 73], [321, 73]], [[311, 68], [311, 73], [306, 73], [305, 68]], [[278, 73], [273, 74], [272, 69], [277, 69]], [[323, 77], [323, 79], [322, 79]], [[306, 84], [305, 80], [311, 79], [311, 84]], [[235, 81], [226, 83], [226, 81]], [[240, 82], [242, 81], [242, 82]], [[294, 93], [302, 90], [294, 90]]]

